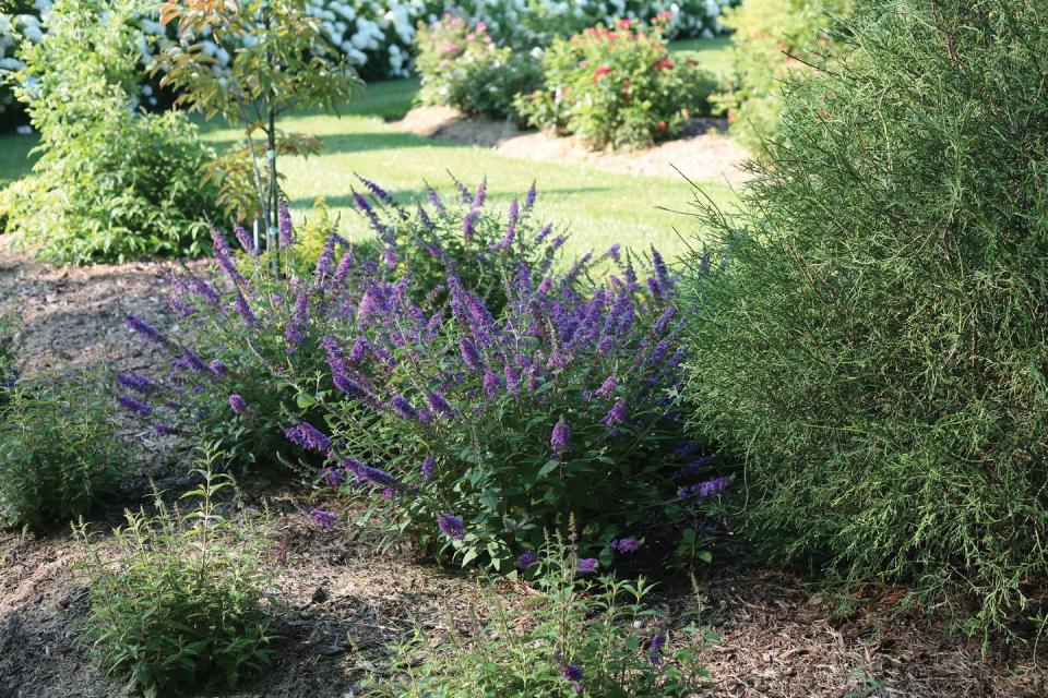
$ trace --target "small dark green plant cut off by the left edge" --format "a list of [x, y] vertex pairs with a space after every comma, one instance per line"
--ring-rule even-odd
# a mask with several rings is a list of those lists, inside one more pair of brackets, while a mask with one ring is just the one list
[[88, 375], [0, 385], [0, 525], [62, 526], [112, 494], [128, 458], [112, 411]]

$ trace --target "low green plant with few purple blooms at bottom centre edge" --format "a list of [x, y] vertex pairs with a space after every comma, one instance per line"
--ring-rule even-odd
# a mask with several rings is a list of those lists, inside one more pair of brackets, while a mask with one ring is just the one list
[[665, 629], [646, 605], [644, 579], [591, 580], [596, 561], [579, 559], [561, 539], [544, 554], [522, 564], [535, 597], [507, 600], [489, 589], [489, 619], [474, 616], [464, 637], [453, 630], [441, 643], [417, 631], [394, 646], [393, 678], [367, 681], [368, 695], [682, 698], [708, 685], [696, 649], [712, 637], [694, 626]]

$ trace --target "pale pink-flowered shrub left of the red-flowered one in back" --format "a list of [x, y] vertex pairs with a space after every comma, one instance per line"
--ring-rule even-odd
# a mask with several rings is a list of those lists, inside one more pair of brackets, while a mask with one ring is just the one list
[[513, 97], [541, 81], [537, 61], [509, 46], [496, 46], [487, 25], [471, 26], [448, 14], [418, 36], [419, 98], [464, 113], [505, 117]]

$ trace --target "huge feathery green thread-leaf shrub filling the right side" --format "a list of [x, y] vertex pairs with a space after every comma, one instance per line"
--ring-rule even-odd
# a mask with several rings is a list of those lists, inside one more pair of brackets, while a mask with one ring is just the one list
[[773, 557], [1000, 627], [1048, 577], [1048, 7], [895, 0], [847, 29], [741, 217], [705, 213], [694, 425], [748, 456]]

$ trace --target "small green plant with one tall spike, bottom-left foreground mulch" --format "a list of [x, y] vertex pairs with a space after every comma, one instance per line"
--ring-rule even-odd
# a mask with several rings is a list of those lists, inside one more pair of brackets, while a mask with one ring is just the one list
[[146, 696], [234, 687], [270, 663], [271, 621], [264, 593], [271, 582], [271, 543], [264, 520], [237, 501], [236, 518], [221, 514], [217, 495], [234, 490], [213, 472], [212, 452], [193, 472], [201, 484], [167, 505], [154, 491], [155, 515], [127, 512], [116, 529], [116, 555], [81, 522], [90, 582], [84, 633], [107, 674], [128, 676]]

